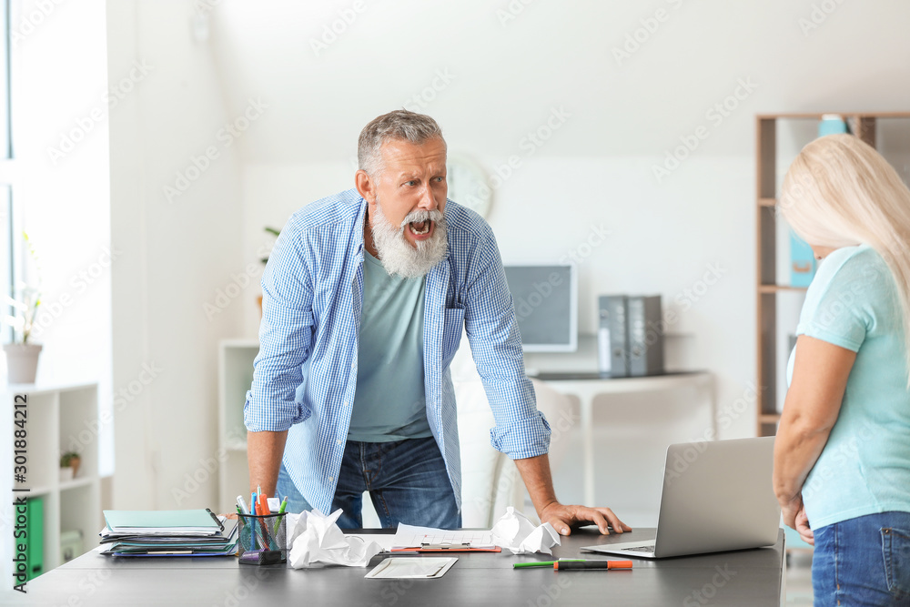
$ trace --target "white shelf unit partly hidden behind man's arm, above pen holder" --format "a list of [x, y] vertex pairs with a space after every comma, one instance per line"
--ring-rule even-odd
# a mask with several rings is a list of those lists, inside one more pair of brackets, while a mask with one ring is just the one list
[[220, 512], [233, 511], [237, 496], [249, 493], [243, 403], [258, 352], [258, 339], [224, 339], [218, 344], [218, 449], [225, 453], [218, 466]]

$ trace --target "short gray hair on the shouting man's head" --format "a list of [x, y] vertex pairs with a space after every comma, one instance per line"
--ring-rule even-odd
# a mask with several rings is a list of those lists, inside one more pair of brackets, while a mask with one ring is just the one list
[[425, 114], [397, 109], [377, 116], [360, 131], [357, 142], [358, 168], [366, 171], [371, 177], [377, 177], [382, 169], [382, 144], [394, 139], [403, 139], [420, 145], [437, 137], [445, 145], [442, 129], [435, 120]]

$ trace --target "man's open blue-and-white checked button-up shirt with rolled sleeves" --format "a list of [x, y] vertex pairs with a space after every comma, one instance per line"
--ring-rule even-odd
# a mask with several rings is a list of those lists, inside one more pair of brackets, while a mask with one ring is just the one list
[[[300, 493], [328, 512], [348, 436], [367, 203], [349, 189], [301, 208], [281, 230], [262, 276], [263, 317], [247, 429], [288, 430], [283, 463]], [[499, 249], [479, 215], [446, 202], [449, 250], [426, 278], [423, 322], [427, 420], [461, 504], [450, 363], [464, 327], [496, 425], [492, 446], [511, 459], [546, 453], [550, 426], [524, 374], [521, 338]], [[394, 399], [395, 387], [389, 386]]]

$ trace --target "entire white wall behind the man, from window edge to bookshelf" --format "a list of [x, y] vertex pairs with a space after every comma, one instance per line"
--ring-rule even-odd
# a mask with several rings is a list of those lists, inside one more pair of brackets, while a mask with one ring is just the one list
[[[833, 12], [814, 8], [822, 4]], [[581, 265], [581, 330], [593, 329], [597, 294], [661, 293], [679, 314], [679, 351], [713, 370], [723, 408], [749, 393], [755, 373], [754, 115], [906, 110], [910, 98], [910, 5], [885, 0], [357, 6], [198, 3], [210, 18], [205, 44], [189, 37], [188, 0], [108, 8], [112, 74], [136, 59], [156, 66], [111, 123], [112, 228], [126, 251], [114, 273], [115, 388], [144, 362], [167, 363], [117, 418], [118, 475], [129, 475], [119, 505], [174, 505], [168, 491], [214, 453], [214, 344], [256, 335], [258, 286], [244, 275], [258, 280], [262, 228], [352, 185], [356, 138], [373, 116], [405, 104], [430, 113], [450, 150], [490, 175], [517, 157], [490, 214], [507, 260], [558, 259], [592, 227], [611, 230]], [[614, 49], [636, 35], [638, 48], [617, 61]], [[268, 107], [167, 204], [162, 186], [190, 155], [220, 145], [219, 125], [250, 99]], [[714, 108], [724, 102], [725, 115]], [[569, 116], [529, 145], [559, 108]], [[658, 179], [654, 167], [696, 132], [706, 137]], [[701, 290], [713, 264], [723, 274]], [[237, 297], [206, 314], [232, 283]], [[684, 397], [646, 404], [676, 420], [672, 430], [648, 439], [645, 425], [623, 429], [612, 415], [605, 448], [622, 432], [650, 450], [701, 435], [678, 415]], [[722, 438], [753, 431], [749, 408]], [[603, 470], [602, 486], [615, 479]], [[572, 499], [571, 483], [565, 490]], [[213, 497], [204, 489], [193, 502]]]

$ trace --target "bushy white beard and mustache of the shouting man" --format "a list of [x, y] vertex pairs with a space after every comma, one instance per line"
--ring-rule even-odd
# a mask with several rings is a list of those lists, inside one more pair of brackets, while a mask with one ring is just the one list
[[[379, 253], [379, 261], [391, 276], [396, 274], [404, 278], [420, 278], [435, 267], [446, 255], [449, 248], [449, 235], [446, 227], [446, 218], [438, 210], [413, 211], [404, 218], [401, 225], [396, 228], [389, 222], [379, 198], [376, 198], [376, 209], [379, 211], [373, 218], [370, 230], [373, 234], [373, 244]], [[419, 240], [412, 246], [404, 236], [404, 230], [411, 221], [431, 220], [433, 236], [427, 240]]]

